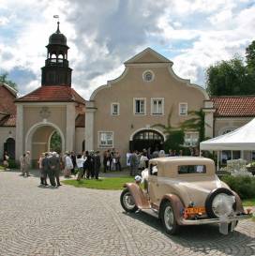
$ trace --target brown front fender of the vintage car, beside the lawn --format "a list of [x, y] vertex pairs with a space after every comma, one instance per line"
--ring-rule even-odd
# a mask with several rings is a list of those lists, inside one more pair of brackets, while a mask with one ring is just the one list
[[143, 193], [143, 189], [140, 188], [137, 184], [135, 183], [126, 183], [124, 185], [124, 188], [128, 188], [130, 194], [132, 195], [134, 202], [136, 206], [139, 209], [150, 209], [150, 203], [147, 200], [146, 196]]

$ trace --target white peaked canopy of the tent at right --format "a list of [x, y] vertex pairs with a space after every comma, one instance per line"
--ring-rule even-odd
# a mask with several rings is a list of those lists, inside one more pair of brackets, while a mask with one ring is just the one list
[[201, 150], [255, 150], [255, 118], [232, 132], [200, 143]]

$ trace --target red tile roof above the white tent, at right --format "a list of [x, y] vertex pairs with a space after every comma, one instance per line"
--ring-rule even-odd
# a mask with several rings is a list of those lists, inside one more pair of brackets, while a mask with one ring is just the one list
[[215, 116], [249, 117], [255, 116], [255, 96], [222, 96], [212, 97]]

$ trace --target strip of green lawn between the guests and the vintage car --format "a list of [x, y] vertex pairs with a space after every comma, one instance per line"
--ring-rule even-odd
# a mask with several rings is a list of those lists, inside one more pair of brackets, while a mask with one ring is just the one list
[[77, 180], [63, 180], [62, 183], [71, 185], [76, 188], [96, 188], [96, 189], [123, 189], [123, 185], [128, 182], [133, 182], [133, 177], [113, 177], [113, 178], [100, 178], [96, 179], [82, 179]]

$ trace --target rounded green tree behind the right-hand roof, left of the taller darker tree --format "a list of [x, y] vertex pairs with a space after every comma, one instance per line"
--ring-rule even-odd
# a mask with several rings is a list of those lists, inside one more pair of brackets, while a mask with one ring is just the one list
[[210, 96], [255, 94], [249, 85], [247, 68], [241, 57], [220, 61], [206, 70], [206, 90]]

